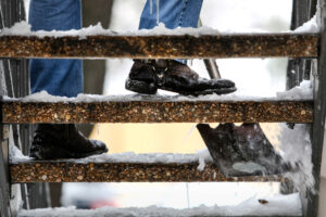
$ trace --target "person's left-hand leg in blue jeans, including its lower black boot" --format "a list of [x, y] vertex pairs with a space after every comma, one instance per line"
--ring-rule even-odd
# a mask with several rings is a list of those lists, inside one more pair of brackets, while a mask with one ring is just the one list
[[[32, 0], [29, 24], [33, 30], [70, 30], [82, 26], [79, 0]], [[76, 97], [83, 91], [82, 60], [32, 60], [32, 92]], [[108, 152], [103, 142], [88, 140], [72, 124], [37, 125], [29, 150], [36, 159], [80, 158]]]

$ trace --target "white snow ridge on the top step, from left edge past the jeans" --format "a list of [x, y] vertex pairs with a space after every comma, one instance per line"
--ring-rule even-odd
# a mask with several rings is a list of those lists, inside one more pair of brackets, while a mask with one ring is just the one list
[[160, 23], [153, 29], [140, 29], [140, 30], [127, 30], [127, 31], [114, 31], [111, 29], [104, 29], [100, 23], [95, 26], [89, 26], [82, 29], [71, 30], [37, 30], [33, 31], [32, 26], [23, 21], [15, 23], [11, 28], [3, 28], [0, 30], [0, 36], [37, 36], [43, 37], [64, 37], [64, 36], [76, 36], [79, 39], [85, 39], [87, 36], [102, 35], [102, 36], [159, 36], [159, 35], [191, 35], [199, 37], [202, 35], [220, 35], [221, 33], [208, 26], [200, 28], [175, 28], [168, 29], [163, 23]]

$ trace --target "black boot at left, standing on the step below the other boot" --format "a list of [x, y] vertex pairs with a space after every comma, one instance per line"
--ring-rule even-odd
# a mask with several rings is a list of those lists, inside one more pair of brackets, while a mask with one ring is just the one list
[[36, 159], [82, 158], [108, 152], [106, 145], [85, 138], [75, 125], [38, 125], [29, 150]]

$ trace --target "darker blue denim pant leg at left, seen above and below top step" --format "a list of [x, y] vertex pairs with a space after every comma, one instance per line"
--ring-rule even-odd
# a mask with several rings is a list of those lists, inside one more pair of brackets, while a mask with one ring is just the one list
[[[68, 30], [82, 27], [80, 0], [32, 0], [32, 30]], [[82, 60], [34, 59], [29, 64], [30, 91], [76, 97], [83, 92]]]

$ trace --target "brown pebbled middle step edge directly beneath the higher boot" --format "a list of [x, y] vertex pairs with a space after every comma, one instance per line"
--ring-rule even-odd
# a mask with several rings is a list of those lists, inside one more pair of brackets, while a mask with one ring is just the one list
[[4, 100], [4, 124], [28, 123], [312, 123], [313, 101], [225, 101], [111, 97], [82, 101]]

